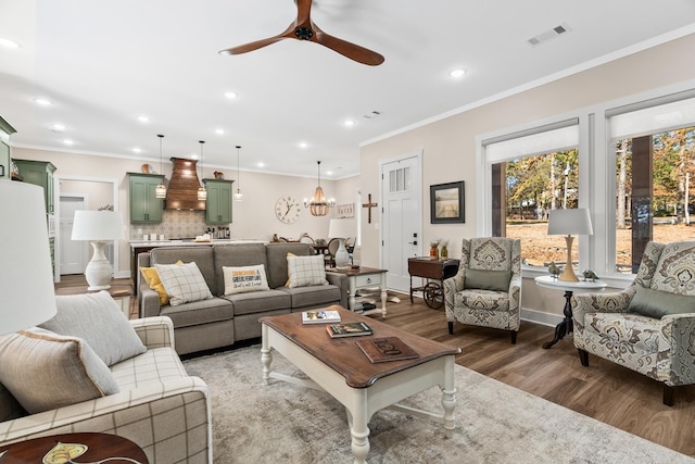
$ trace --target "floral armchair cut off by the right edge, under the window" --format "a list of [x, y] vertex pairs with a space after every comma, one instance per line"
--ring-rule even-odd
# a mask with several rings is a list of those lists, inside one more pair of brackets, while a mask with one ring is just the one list
[[571, 299], [574, 346], [664, 383], [695, 384], [695, 241], [648, 242], [632, 284], [620, 292]]

